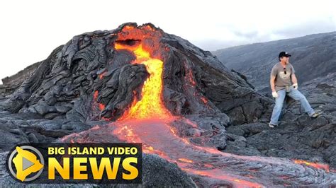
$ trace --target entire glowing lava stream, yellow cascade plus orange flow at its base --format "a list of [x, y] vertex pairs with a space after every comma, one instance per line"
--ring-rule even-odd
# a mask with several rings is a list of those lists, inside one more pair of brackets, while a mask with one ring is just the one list
[[[209, 155], [208, 151], [200, 150], [186, 139], [174, 134], [169, 124], [178, 119], [170, 114], [162, 102], [162, 71], [163, 62], [153, 59], [150, 53], [142, 49], [142, 45], [128, 46], [115, 44], [116, 49], [128, 49], [135, 54], [134, 64], [144, 64], [150, 77], [145, 81], [141, 100], [133, 101], [130, 110], [125, 112], [115, 123], [117, 128], [113, 134], [119, 139], [128, 142], [143, 144], [145, 153], [155, 153], [189, 173], [203, 175], [218, 180], [233, 182], [233, 184], [248, 187], [260, 187], [260, 184], [237, 179], [225, 175], [225, 170], [211, 170], [206, 163], [215, 163], [220, 160], [218, 156]], [[200, 147], [201, 148], [201, 147]], [[208, 158], [215, 160], [209, 160]], [[206, 169], [203, 169], [206, 167]]]

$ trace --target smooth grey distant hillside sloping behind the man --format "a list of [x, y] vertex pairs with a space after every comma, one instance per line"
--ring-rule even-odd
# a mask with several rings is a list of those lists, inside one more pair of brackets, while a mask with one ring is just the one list
[[278, 54], [292, 54], [298, 83], [336, 72], [336, 32], [219, 49], [213, 54], [228, 67], [247, 76], [257, 90], [269, 91], [269, 73]]

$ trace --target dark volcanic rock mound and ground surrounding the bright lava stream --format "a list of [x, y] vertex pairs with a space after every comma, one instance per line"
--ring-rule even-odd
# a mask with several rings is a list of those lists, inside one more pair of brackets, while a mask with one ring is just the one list
[[[132, 45], [139, 41], [148, 46], [153, 56], [164, 59], [164, 104], [174, 116], [186, 118], [171, 125], [179, 137], [189, 139], [196, 146], [211, 146], [224, 153], [284, 158], [271, 160], [286, 165], [276, 166], [277, 171], [264, 162], [247, 163], [247, 157], [245, 162], [239, 162], [245, 166], [240, 168], [237, 156], [234, 160], [223, 158], [228, 160], [225, 164], [213, 163], [229, 165], [233, 173], [240, 175], [247, 167], [252, 169], [257, 165], [263, 169], [258, 174], [259, 179], [268, 185], [336, 182], [332, 180], [336, 176], [333, 171], [336, 168], [335, 74], [299, 86], [311, 105], [322, 111], [320, 117], [310, 119], [301, 112], [298, 102], [289, 100], [281, 124], [270, 129], [267, 123], [273, 107], [272, 98], [255, 91], [245, 76], [226, 69], [210, 52], [163, 33], [151, 24], [128, 23], [116, 30], [77, 35], [41, 61], [32, 76], [14, 92], [6, 90], [9, 95], [0, 98], [1, 156], [4, 158], [6, 151], [17, 143], [60, 141], [69, 134], [77, 140], [86, 136], [92, 141], [106, 138], [111, 141], [113, 135], [106, 135], [106, 131], [99, 137], [85, 130], [113, 123], [127, 110], [133, 97], [139, 98], [142, 82], [148, 76], [145, 67], [130, 64], [135, 60], [134, 55], [111, 45], [118, 42]], [[191, 122], [197, 124], [196, 129]], [[195, 146], [192, 147], [192, 152], [197, 153]], [[295, 165], [291, 163], [293, 159], [327, 163], [331, 169]], [[145, 169], [144, 185], [147, 186], [193, 187], [194, 182], [205, 181], [204, 175], [189, 173], [192, 182], [176, 165], [157, 155], [144, 158], [144, 163], [157, 163]], [[160, 175], [150, 174], [153, 171], [150, 168], [159, 169]], [[280, 178], [279, 169], [288, 170], [286, 175], [293, 174], [292, 180], [271, 180], [267, 176], [274, 173]], [[305, 172], [302, 177], [295, 175], [297, 169]], [[162, 177], [167, 174], [172, 176], [165, 182]], [[9, 182], [6, 172], [1, 175], [0, 182]]]

